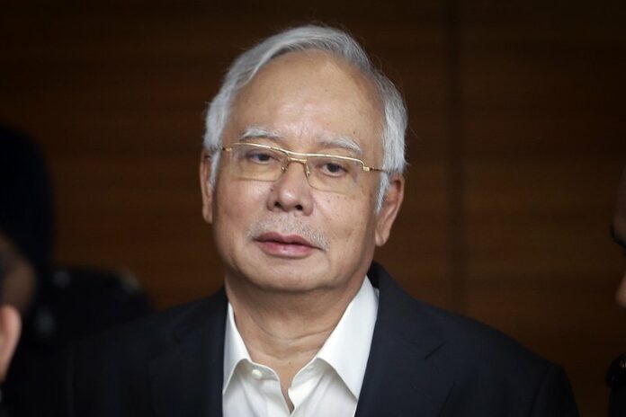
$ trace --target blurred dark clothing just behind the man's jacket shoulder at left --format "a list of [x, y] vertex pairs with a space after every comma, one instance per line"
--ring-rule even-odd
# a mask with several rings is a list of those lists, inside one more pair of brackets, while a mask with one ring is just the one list
[[110, 271], [55, 271], [39, 292], [4, 382], [11, 417], [49, 415], [69, 342], [150, 311], [136, 281]]

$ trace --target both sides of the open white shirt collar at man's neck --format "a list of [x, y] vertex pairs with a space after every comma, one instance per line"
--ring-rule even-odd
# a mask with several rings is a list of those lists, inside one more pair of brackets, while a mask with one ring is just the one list
[[[317, 352], [315, 358], [330, 365], [355, 398], [361, 394], [367, 359], [370, 356], [371, 337], [378, 314], [378, 291], [371, 286], [370, 279], [363, 279], [361, 288], [347, 306], [335, 330]], [[226, 333], [224, 339], [224, 385], [226, 392], [235, 368], [242, 360], [252, 362], [241, 334], [235, 324], [233, 308], [228, 303]], [[310, 362], [309, 362], [310, 363]]]

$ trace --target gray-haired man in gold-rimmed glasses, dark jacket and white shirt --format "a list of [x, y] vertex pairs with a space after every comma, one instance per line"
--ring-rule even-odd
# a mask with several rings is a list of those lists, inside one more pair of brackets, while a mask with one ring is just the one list
[[202, 216], [224, 290], [76, 347], [69, 415], [577, 415], [562, 370], [380, 265], [406, 111], [342, 31], [246, 51], [210, 103]]

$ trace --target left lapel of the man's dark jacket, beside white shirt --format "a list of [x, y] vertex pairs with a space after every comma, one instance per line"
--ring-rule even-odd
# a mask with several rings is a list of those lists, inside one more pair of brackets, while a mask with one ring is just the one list
[[149, 364], [156, 417], [220, 417], [224, 290], [210, 297], [174, 330], [164, 352]]

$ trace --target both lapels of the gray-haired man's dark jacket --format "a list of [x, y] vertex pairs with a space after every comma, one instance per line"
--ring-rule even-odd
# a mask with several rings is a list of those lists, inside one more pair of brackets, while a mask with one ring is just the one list
[[[368, 272], [379, 314], [355, 417], [440, 414], [452, 377], [437, 366], [443, 338], [386, 271]], [[221, 417], [227, 299], [222, 289], [178, 325], [149, 364], [156, 417]]]

